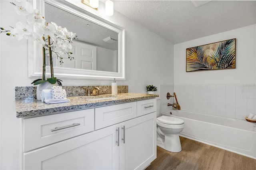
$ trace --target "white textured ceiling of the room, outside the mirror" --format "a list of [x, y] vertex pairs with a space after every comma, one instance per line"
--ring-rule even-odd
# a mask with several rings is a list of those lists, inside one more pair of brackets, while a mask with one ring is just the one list
[[256, 24], [256, 1], [113, 0], [114, 10], [173, 44]]

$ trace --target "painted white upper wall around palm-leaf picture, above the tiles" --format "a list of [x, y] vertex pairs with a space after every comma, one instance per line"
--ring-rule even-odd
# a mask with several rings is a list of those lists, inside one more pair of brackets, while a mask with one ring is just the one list
[[[174, 45], [175, 84], [254, 84], [256, 26]], [[186, 48], [236, 38], [236, 69], [186, 72]]]

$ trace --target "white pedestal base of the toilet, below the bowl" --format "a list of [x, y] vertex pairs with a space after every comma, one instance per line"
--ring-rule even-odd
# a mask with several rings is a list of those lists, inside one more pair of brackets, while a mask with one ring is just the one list
[[168, 134], [168, 136], [165, 135], [164, 142], [157, 141], [156, 145], [170, 152], [180, 152], [182, 150], [180, 137], [178, 134]]

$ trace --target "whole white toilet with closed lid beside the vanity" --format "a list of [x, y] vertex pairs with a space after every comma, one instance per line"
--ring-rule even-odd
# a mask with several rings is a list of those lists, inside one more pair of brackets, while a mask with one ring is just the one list
[[[160, 115], [160, 101], [157, 101], [157, 116]], [[160, 116], [156, 119], [157, 146], [170, 152], [180, 152], [180, 133], [184, 128], [184, 121], [177, 117]]]

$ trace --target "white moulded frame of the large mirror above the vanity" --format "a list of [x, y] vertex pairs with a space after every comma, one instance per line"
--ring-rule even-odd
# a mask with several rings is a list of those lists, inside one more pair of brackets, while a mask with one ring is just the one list
[[[66, 1], [52, 0], [33, 0], [34, 8], [39, 9], [44, 15], [44, 3], [54, 5], [62, 10], [72, 12], [73, 14], [90, 20], [100, 26], [104, 26], [118, 33], [118, 71], [97, 71], [74, 68], [54, 67], [54, 77], [67, 79], [96, 79], [96, 80], [117, 80], [125, 79], [125, 30], [121, 26], [104, 20], [78, 6], [70, 4]], [[54, 22], [54, 21], [52, 21]], [[69, 30], [72, 31], [72, 30]], [[42, 77], [42, 45], [34, 41], [28, 41], [28, 77]], [[46, 77], [50, 77], [50, 67], [46, 66]]]

